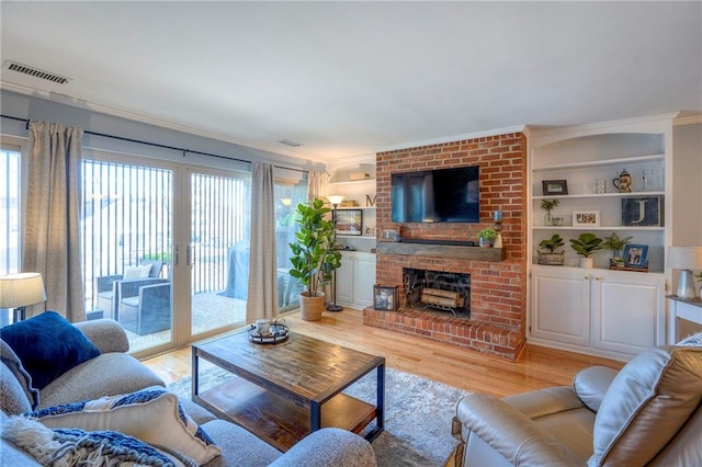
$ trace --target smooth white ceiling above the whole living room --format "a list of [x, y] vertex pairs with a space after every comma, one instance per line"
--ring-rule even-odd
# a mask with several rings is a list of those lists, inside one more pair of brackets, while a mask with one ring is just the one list
[[2, 1], [2, 60], [71, 81], [3, 69], [1, 84], [335, 160], [522, 124], [702, 113], [701, 7]]

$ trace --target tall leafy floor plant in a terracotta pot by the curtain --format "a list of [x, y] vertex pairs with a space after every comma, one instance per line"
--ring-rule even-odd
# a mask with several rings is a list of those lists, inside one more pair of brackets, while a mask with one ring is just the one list
[[324, 285], [331, 280], [331, 273], [341, 265], [341, 252], [333, 249], [333, 221], [326, 215], [331, 212], [321, 200], [298, 204], [296, 223], [299, 231], [297, 241], [288, 243], [293, 252], [290, 275], [303, 285], [299, 308], [304, 320], [321, 318], [325, 309]]

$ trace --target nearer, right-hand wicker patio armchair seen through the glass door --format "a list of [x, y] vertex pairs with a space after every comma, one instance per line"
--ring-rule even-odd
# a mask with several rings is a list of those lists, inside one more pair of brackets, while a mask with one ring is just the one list
[[170, 329], [171, 284], [157, 281], [163, 283], [141, 285], [136, 296], [122, 295], [120, 323], [124, 329], [139, 335]]

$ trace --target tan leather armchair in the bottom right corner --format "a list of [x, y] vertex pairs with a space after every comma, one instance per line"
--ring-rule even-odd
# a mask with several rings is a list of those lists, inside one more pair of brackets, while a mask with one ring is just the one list
[[702, 465], [702, 348], [661, 346], [619, 373], [593, 366], [573, 387], [456, 409], [462, 466]]

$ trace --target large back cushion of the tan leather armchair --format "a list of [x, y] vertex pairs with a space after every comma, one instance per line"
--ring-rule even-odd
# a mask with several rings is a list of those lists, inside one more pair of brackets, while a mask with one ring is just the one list
[[702, 349], [661, 346], [614, 377], [595, 419], [590, 466], [645, 465], [702, 400]]

